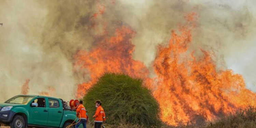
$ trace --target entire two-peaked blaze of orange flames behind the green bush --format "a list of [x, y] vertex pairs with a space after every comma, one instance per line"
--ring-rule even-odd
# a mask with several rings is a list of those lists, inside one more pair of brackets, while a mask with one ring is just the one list
[[153, 62], [156, 77], [152, 79], [144, 63], [132, 58], [131, 39], [135, 32], [121, 26], [109, 38], [105, 30], [95, 47], [90, 51], [80, 50], [74, 56], [74, 69], [86, 69], [85, 73], [90, 75], [89, 82], [78, 85], [76, 97], [82, 98], [103, 73], [114, 72], [143, 78], [159, 102], [162, 121], [168, 125], [213, 120], [221, 114], [255, 105], [256, 94], [245, 88], [241, 75], [232, 70], [217, 70], [208, 51], [201, 49], [203, 56], [199, 58], [194, 52], [187, 52], [197, 14], [189, 13], [184, 18], [185, 25], [171, 32], [169, 44], [158, 46]]

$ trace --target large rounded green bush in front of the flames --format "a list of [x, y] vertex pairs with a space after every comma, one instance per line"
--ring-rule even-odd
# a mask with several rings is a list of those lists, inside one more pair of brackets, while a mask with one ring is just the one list
[[83, 98], [89, 120], [96, 111], [95, 101], [101, 100], [108, 124], [159, 126], [159, 104], [142, 82], [124, 74], [104, 74]]

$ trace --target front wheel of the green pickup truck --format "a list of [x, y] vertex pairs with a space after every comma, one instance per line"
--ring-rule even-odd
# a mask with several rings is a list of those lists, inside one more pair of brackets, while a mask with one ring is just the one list
[[26, 128], [27, 123], [23, 116], [16, 115], [13, 117], [12, 122], [10, 123], [11, 128]]

